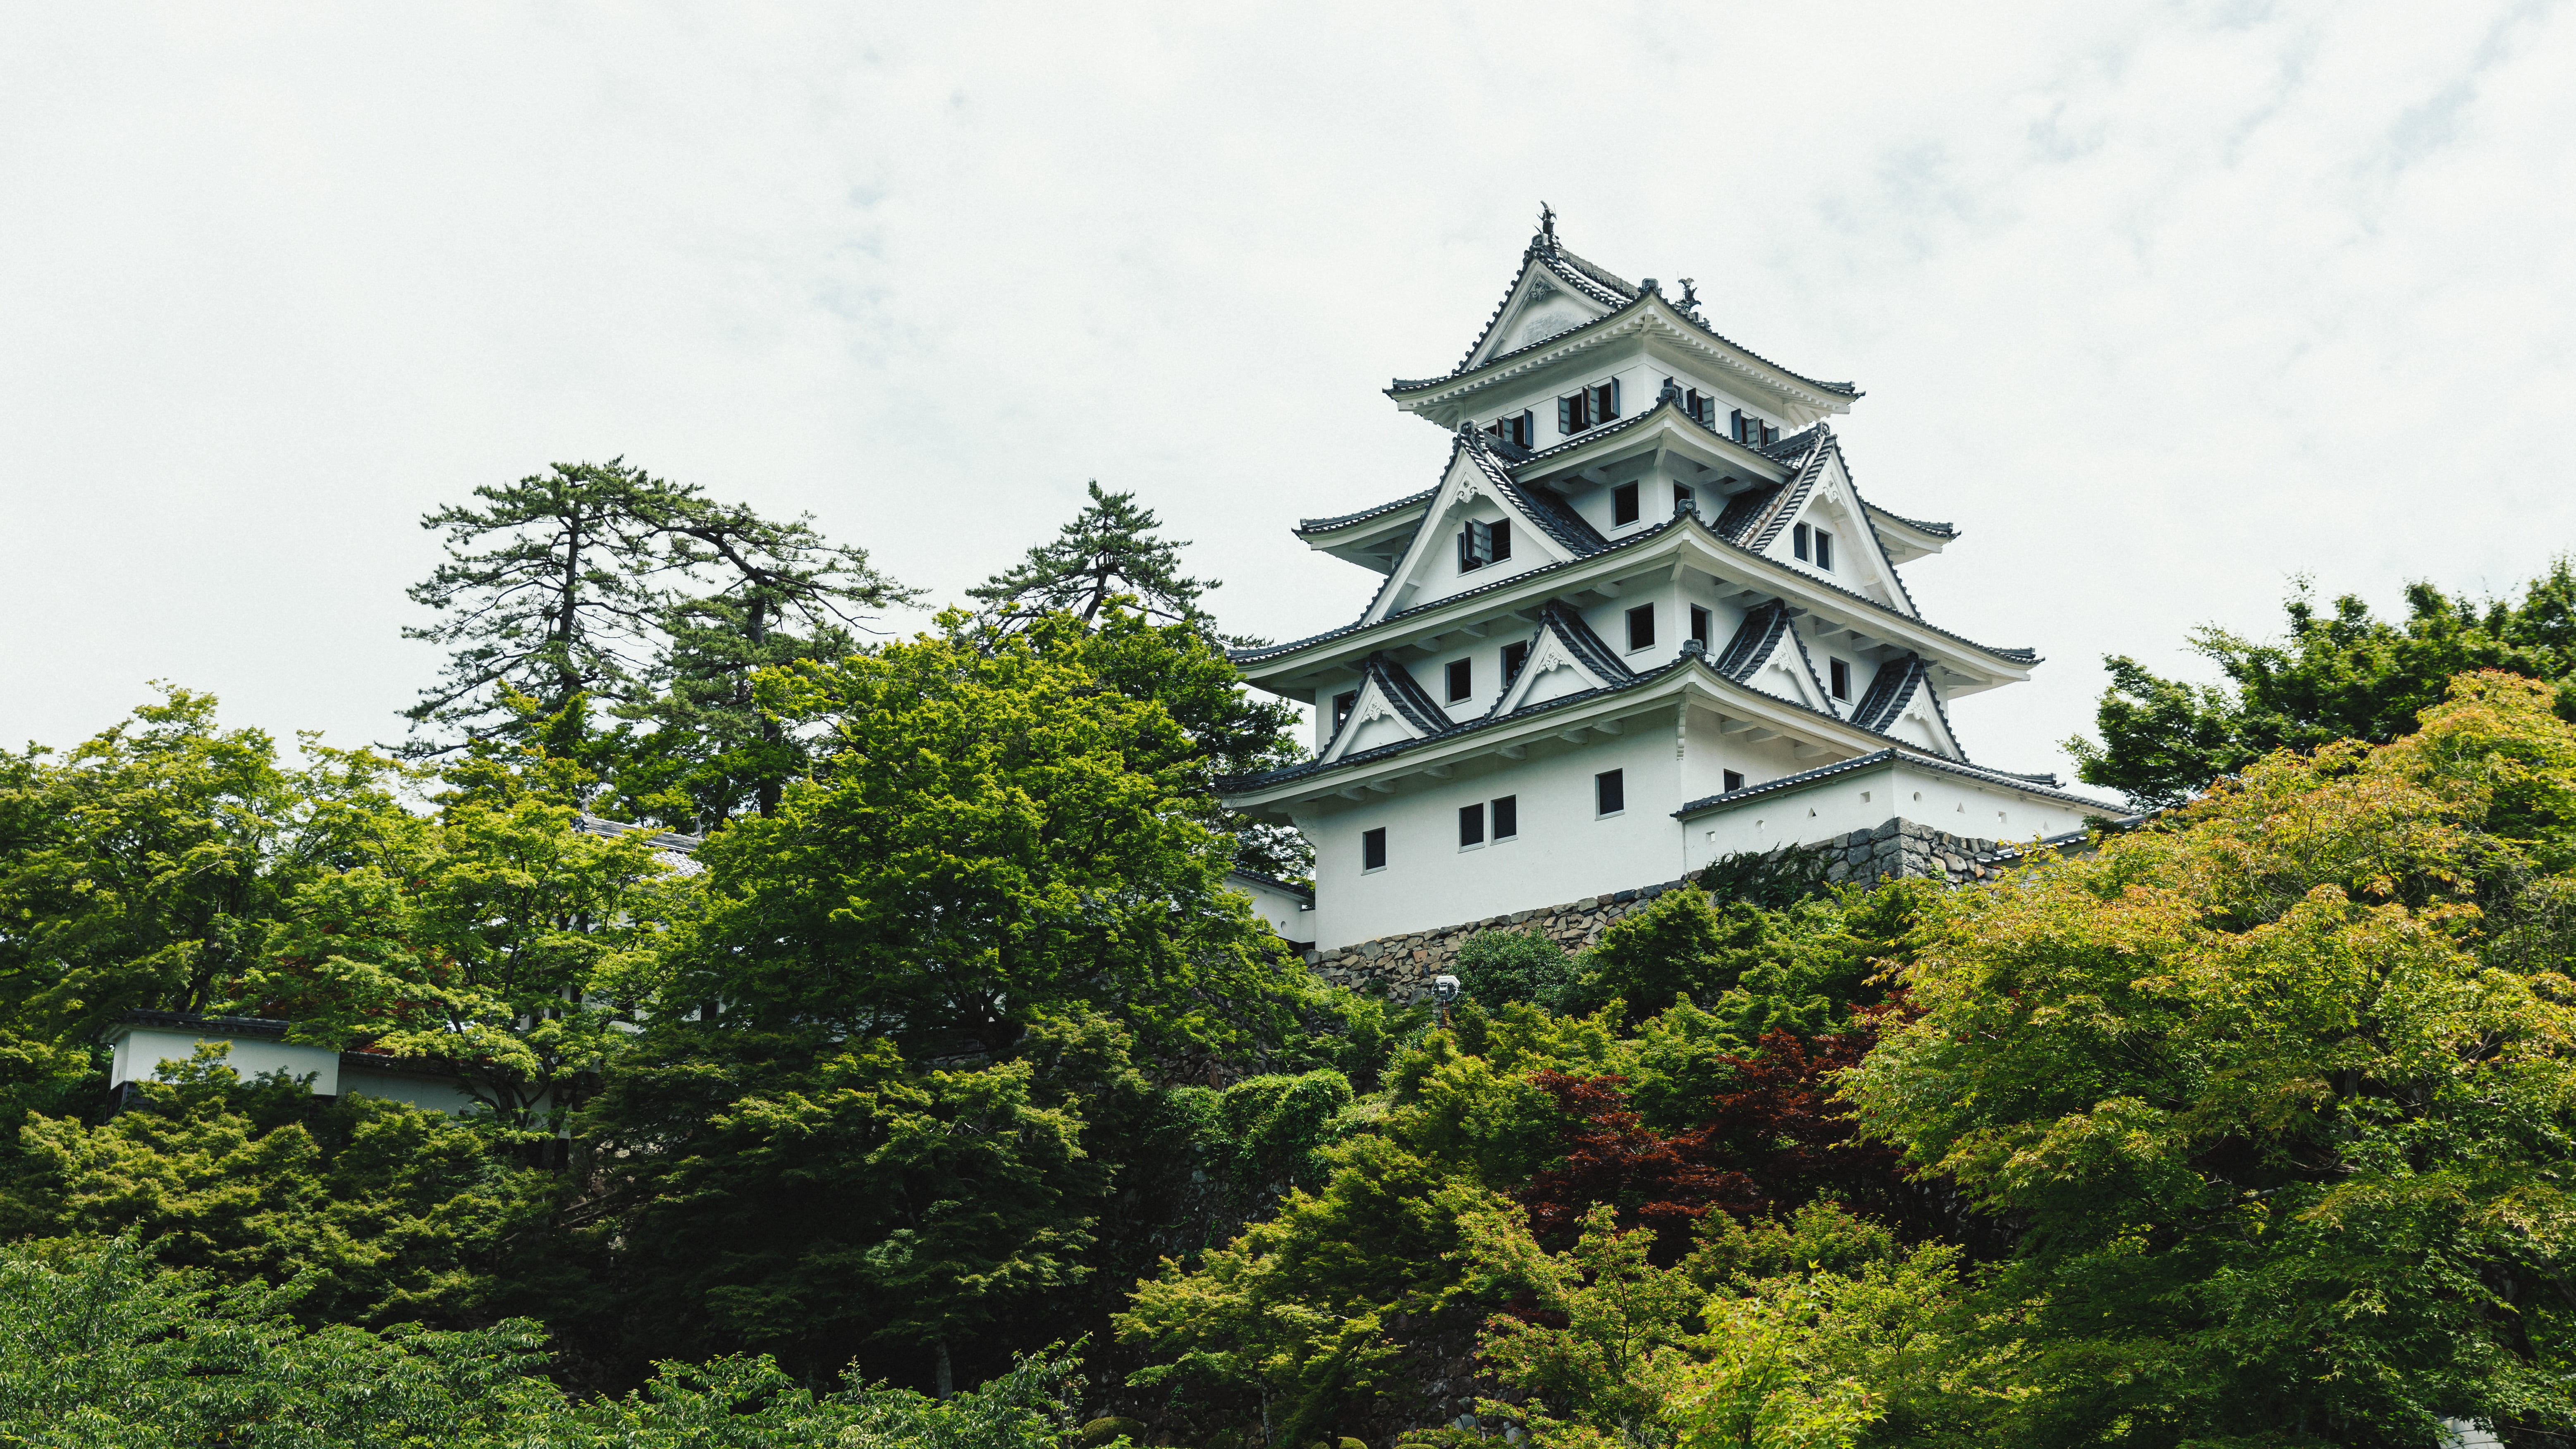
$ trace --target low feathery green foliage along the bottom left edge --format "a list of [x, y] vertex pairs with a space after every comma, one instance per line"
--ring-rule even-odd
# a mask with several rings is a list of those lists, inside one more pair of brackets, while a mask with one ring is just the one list
[[1054, 1449], [1082, 1395], [1048, 1354], [948, 1400], [719, 1359], [574, 1403], [541, 1366], [531, 1320], [309, 1330], [129, 1243], [0, 1248], [0, 1441], [31, 1449]]

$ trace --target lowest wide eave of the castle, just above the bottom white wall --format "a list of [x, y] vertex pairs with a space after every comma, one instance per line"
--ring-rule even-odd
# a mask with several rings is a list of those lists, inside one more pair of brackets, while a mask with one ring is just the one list
[[1708, 655], [1682, 655], [1613, 686], [1548, 699], [1499, 719], [1466, 719], [1435, 735], [1396, 740], [1342, 755], [1332, 763], [1303, 763], [1262, 776], [1221, 779], [1216, 786], [1231, 810], [1265, 810], [1298, 799], [1321, 799], [1327, 794], [1368, 789], [1370, 781], [1386, 786], [1399, 776], [1435, 771], [1458, 758], [1510, 745], [1530, 745], [1540, 737], [1602, 730], [1602, 724], [1620, 724], [1631, 714], [1672, 706], [1674, 701], [1692, 701], [1728, 719], [1749, 719], [1798, 745], [1850, 750], [1852, 755], [1891, 748], [1911, 750], [1911, 745], [1862, 730], [1850, 719], [1736, 683], [1721, 676]]

